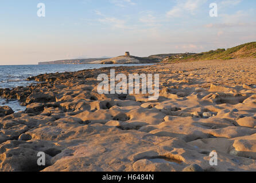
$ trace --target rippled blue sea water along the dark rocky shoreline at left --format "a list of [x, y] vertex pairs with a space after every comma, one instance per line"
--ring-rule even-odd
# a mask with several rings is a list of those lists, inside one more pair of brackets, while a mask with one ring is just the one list
[[[152, 64], [135, 64], [152, 65]], [[0, 65], [0, 88], [13, 88], [17, 86], [28, 86], [35, 81], [26, 81], [26, 78], [45, 73], [64, 73], [65, 71], [79, 71], [84, 69], [99, 69], [101, 67], [113, 66], [135, 66], [134, 64], [126, 65], [100, 65], [100, 64], [82, 64], [82, 65]], [[25, 110], [18, 101], [6, 101], [0, 98], [0, 106], [8, 105], [15, 112]]]

